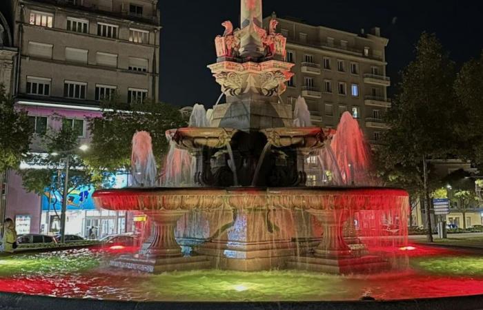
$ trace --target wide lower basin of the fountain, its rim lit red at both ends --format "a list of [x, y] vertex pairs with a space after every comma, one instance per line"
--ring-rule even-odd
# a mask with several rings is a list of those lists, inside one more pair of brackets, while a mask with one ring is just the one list
[[110, 210], [175, 211], [283, 208], [306, 211], [385, 210], [408, 204], [408, 193], [387, 187], [306, 188], [130, 188], [94, 193], [95, 204]]

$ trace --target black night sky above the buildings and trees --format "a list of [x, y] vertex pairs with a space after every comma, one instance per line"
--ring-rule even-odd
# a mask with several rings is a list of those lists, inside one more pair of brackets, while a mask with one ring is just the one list
[[[457, 63], [483, 49], [483, 1], [457, 0], [264, 0], [264, 17], [295, 17], [311, 25], [359, 33], [374, 26], [389, 39], [388, 75], [413, 59], [421, 32], [435, 32]], [[161, 101], [179, 106], [211, 106], [220, 88], [206, 65], [216, 61], [214, 39], [221, 23], [239, 26], [239, 0], [159, 1], [161, 9]], [[391, 90], [390, 90], [391, 92]]]

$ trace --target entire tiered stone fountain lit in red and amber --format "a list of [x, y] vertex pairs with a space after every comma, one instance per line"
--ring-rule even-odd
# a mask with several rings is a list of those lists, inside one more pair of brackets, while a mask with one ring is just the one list
[[[215, 39], [217, 63], [208, 68], [226, 102], [215, 105], [209, 120], [204, 108], [195, 107], [193, 118], [201, 115], [201, 122], [166, 133], [171, 155], [165, 171], [175, 181], [164, 183], [170, 187], [95, 193], [97, 207], [142, 211], [154, 224], [139, 254], [112, 265], [150, 272], [331, 273], [391, 265], [379, 249], [406, 245], [408, 194], [348, 186], [373, 184], [363, 171], [368, 149], [357, 121], [344, 115], [335, 134], [311, 127], [302, 98], [295, 115], [282, 103], [293, 63], [284, 61], [286, 38], [277, 33], [277, 21], [270, 21], [268, 31], [262, 28], [261, 0], [242, 0], [241, 29], [230, 21], [223, 25], [226, 31]], [[306, 187], [306, 161], [313, 156], [322, 179], [330, 173], [339, 187]], [[176, 181], [184, 169], [191, 180]], [[179, 242], [190, 245], [190, 255], [181, 253]]]

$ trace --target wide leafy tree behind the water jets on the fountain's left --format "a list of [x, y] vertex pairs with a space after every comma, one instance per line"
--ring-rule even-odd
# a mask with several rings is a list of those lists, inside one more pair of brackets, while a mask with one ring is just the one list
[[93, 169], [110, 172], [129, 169], [132, 136], [149, 132], [157, 164], [162, 165], [168, 149], [166, 130], [186, 126], [179, 110], [166, 103], [120, 103], [117, 97], [102, 103], [101, 117], [89, 120], [92, 136], [86, 161]]

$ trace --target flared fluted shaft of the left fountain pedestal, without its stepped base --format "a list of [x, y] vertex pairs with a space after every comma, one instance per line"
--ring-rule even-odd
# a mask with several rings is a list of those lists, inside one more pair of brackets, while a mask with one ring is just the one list
[[187, 210], [164, 210], [146, 212], [152, 220], [153, 231], [150, 245], [144, 251], [148, 258], [180, 257], [181, 247], [175, 239], [176, 223]]

